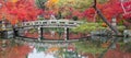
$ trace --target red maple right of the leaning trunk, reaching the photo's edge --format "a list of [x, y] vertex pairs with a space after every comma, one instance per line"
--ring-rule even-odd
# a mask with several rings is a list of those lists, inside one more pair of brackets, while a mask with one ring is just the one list
[[[122, 7], [123, 5], [123, 7]], [[120, 0], [109, 0], [108, 2], [105, 2], [103, 4], [97, 4], [97, 7], [100, 9], [103, 14], [108, 19], [108, 21], [111, 21], [112, 18], [116, 18], [117, 21], [129, 19], [131, 18], [131, 1], [122, 2]], [[127, 13], [124, 13], [124, 10]], [[123, 16], [123, 18], [122, 18]]]

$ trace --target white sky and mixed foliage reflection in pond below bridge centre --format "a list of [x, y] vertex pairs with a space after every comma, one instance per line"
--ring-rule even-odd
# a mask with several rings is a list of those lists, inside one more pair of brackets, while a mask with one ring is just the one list
[[75, 47], [72, 44], [47, 43], [47, 45], [50, 46], [46, 46], [46, 44], [33, 46], [34, 49], [28, 54], [28, 58], [79, 58]]

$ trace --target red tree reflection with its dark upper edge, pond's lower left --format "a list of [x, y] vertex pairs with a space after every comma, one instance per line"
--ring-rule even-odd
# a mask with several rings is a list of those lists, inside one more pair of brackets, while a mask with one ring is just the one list
[[0, 40], [0, 58], [25, 58], [31, 50], [28, 45], [16, 44], [11, 39]]

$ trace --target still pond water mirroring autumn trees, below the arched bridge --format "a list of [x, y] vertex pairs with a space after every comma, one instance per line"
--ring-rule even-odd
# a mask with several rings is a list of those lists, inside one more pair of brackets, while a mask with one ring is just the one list
[[[131, 58], [130, 40], [131, 38], [119, 38], [104, 58]], [[44, 43], [0, 39], [0, 58], [98, 58], [112, 43], [112, 38], [106, 42], [88, 39]]]

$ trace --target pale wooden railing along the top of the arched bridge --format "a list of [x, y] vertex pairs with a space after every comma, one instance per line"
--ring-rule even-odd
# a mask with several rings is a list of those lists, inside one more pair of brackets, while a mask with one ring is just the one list
[[22, 27], [24, 26], [44, 26], [44, 27], [73, 27], [82, 24], [80, 21], [69, 21], [69, 20], [44, 20], [44, 21], [31, 21], [23, 22]]

